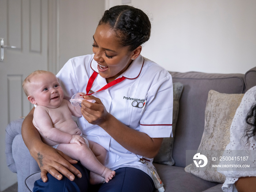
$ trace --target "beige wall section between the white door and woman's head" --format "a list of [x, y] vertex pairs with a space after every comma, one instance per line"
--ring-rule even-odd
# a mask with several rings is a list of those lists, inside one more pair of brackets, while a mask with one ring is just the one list
[[68, 59], [93, 53], [93, 34], [103, 12], [102, 0], [60, 0], [57, 72]]

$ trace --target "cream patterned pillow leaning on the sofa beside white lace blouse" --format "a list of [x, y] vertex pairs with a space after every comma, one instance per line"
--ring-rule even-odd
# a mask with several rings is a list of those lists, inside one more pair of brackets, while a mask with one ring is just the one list
[[240, 105], [244, 94], [225, 94], [210, 90], [205, 109], [205, 124], [201, 143], [197, 153], [208, 158], [205, 167], [196, 167], [191, 163], [185, 167], [185, 172], [192, 173], [207, 181], [225, 181], [225, 176], [217, 172], [212, 164], [219, 164], [219, 159], [212, 162], [212, 154], [222, 155], [227, 144], [230, 142], [230, 126], [236, 109]]

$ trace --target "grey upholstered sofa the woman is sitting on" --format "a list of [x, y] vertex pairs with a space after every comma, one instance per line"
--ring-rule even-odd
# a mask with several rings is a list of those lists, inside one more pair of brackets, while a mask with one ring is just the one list
[[[170, 72], [173, 82], [183, 84], [179, 112], [170, 148], [174, 165], [154, 163], [166, 192], [219, 192], [221, 183], [203, 180], [184, 171], [186, 150], [197, 150], [204, 131], [204, 111], [209, 90], [219, 93], [245, 93], [256, 86], [256, 67], [246, 74], [207, 74], [201, 72]], [[39, 178], [39, 167], [30, 156], [21, 136], [23, 120], [12, 121], [6, 128], [6, 155], [10, 170], [17, 173], [18, 191], [33, 188], [33, 179]], [[34, 174], [35, 173], [35, 174]], [[33, 174], [29, 179], [25, 179]], [[27, 187], [26, 187], [27, 185]], [[156, 190], [157, 191], [157, 190]]]

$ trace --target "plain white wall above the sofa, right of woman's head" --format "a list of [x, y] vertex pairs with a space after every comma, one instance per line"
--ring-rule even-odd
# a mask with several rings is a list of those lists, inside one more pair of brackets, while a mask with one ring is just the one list
[[[122, 0], [105, 0], [105, 9]], [[131, 0], [150, 16], [142, 55], [170, 71], [245, 73], [256, 66], [255, 0]]]

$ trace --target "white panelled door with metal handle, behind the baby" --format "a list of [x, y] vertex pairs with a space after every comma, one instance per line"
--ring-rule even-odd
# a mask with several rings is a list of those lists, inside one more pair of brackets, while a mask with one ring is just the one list
[[26, 116], [31, 105], [22, 90], [30, 72], [48, 70], [48, 0], [0, 0], [0, 37], [5, 46], [0, 62], [0, 191], [16, 182], [5, 160], [5, 127]]

